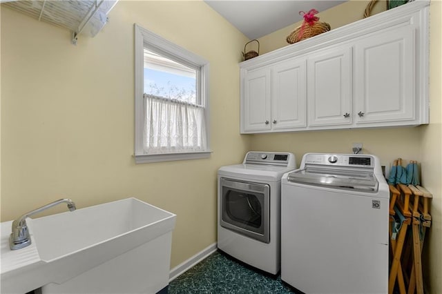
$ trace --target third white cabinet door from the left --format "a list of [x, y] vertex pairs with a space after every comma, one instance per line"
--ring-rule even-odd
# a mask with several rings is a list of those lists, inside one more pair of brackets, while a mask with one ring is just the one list
[[352, 124], [352, 48], [313, 53], [307, 59], [309, 126]]

